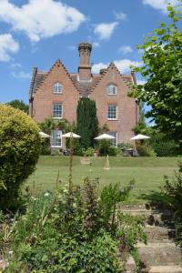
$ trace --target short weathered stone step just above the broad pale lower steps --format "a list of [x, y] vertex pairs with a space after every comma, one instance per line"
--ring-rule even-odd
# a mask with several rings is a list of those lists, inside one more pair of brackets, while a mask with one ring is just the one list
[[147, 225], [145, 228], [147, 234], [147, 242], [165, 241], [175, 238], [175, 229], [167, 227], [156, 227]]

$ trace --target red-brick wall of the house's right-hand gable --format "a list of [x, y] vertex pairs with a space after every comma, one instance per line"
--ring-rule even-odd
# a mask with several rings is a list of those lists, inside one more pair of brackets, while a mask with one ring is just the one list
[[[116, 96], [107, 95], [106, 88], [109, 84], [116, 85]], [[91, 99], [96, 101], [97, 116], [100, 125], [107, 124], [110, 131], [117, 132], [117, 143], [130, 142], [134, 136], [131, 130], [136, 126], [136, 100], [127, 96], [129, 87], [119, 75], [116, 66], [110, 66], [100, 83], [96, 86]], [[117, 106], [117, 119], [107, 119], [108, 105]]]

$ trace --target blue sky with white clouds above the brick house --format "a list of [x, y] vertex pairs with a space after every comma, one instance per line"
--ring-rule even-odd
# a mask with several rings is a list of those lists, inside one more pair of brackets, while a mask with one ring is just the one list
[[[122, 74], [129, 74], [131, 65], [142, 65], [136, 45], [167, 22], [167, 2], [0, 0], [0, 102], [28, 104], [34, 66], [48, 71], [60, 58], [69, 72], [77, 72], [80, 42], [93, 45], [94, 73], [114, 61]], [[138, 75], [137, 80], [145, 79]]]

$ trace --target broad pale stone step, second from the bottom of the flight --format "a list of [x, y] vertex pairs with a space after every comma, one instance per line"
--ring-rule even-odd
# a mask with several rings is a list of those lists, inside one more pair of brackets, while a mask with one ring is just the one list
[[138, 243], [137, 247], [141, 262], [146, 266], [178, 265], [182, 262], [181, 248], [173, 242]]

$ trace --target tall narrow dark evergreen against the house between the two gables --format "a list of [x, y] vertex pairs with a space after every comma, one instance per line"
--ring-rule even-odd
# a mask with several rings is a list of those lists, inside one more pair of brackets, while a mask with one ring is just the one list
[[82, 136], [80, 143], [83, 147], [94, 147], [94, 138], [98, 134], [98, 119], [96, 102], [83, 97], [77, 105], [77, 133]]

